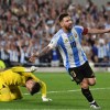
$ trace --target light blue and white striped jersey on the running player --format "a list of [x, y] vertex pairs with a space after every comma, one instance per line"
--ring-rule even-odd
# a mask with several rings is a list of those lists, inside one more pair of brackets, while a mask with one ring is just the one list
[[81, 66], [86, 61], [86, 54], [81, 47], [82, 26], [73, 26], [70, 33], [62, 29], [53, 36], [48, 46], [58, 47], [66, 69]]

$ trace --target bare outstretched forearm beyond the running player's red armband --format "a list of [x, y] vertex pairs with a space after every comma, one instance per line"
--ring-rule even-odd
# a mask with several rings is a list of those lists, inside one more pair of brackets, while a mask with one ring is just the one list
[[88, 29], [89, 34], [102, 34], [102, 33], [109, 33], [110, 29]]

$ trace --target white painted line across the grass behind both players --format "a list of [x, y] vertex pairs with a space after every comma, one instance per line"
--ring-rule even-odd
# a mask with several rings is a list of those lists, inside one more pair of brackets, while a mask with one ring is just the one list
[[[90, 90], [110, 90], [110, 88], [92, 88]], [[63, 90], [63, 91], [47, 91], [47, 94], [58, 94], [58, 92], [76, 92], [76, 91], [80, 91], [80, 89], [76, 89], [76, 90]], [[23, 94], [23, 95], [30, 95], [30, 94]]]

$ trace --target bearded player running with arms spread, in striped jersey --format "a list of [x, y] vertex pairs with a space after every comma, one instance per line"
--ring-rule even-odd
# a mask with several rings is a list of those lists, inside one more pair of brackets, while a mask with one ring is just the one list
[[69, 14], [62, 13], [58, 18], [62, 29], [53, 36], [50, 44], [41, 52], [34, 53], [30, 61], [34, 62], [51, 50], [58, 47], [63, 57], [64, 66], [72, 76], [73, 80], [80, 85], [81, 92], [90, 103], [90, 108], [100, 109], [90, 92], [89, 86], [96, 84], [92, 69], [89, 66], [87, 56], [81, 47], [81, 38], [85, 34], [101, 34], [110, 32], [110, 29], [85, 29], [80, 25], [73, 25]]

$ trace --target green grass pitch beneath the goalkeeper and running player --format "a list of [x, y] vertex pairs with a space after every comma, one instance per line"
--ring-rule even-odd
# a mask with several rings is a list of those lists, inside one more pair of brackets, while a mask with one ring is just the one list
[[[89, 103], [79, 86], [66, 73], [35, 73], [46, 82], [51, 102], [42, 102], [41, 92], [30, 96], [25, 88], [22, 100], [0, 102], [0, 110], [89, 110]], [[97, 73], [97, 85], [90, 87], [94, 98], [102, 110], [110, 110], [110, 73]]]

